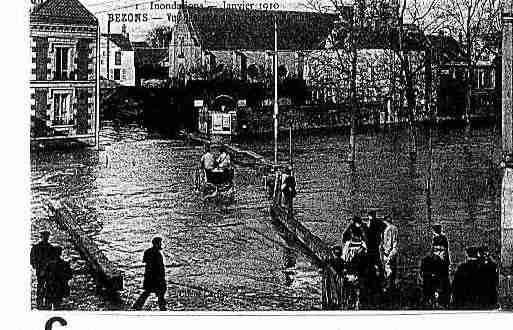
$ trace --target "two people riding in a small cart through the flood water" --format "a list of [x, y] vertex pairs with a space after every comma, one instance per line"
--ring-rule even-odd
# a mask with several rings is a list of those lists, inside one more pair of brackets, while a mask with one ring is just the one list
[[231, 157], [225, 146], [219, 148], [219, 155], [215, 157], [210, 145], [206, 144], [205, 152], [201, 157], [200, 167], [205, 171], [208, 183], [217, 185], [233, 180]]

